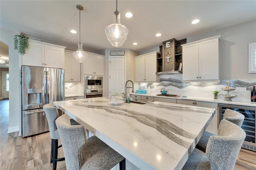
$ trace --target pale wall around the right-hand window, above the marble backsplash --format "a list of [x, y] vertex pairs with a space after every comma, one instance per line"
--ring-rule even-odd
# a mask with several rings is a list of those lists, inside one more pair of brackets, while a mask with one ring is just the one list
[[187, 38], [187, 43], [221, 35], [220, 79], [255, 79], [248, 73], [248, 44], [256, 42], [256, 20]]

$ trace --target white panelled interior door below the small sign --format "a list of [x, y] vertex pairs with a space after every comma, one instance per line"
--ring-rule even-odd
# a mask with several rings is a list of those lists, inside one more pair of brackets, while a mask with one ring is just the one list
[[124, 57], [110, 57], [109, 59], [109, 96], [124, 93], [125, 84], [125, 58]]

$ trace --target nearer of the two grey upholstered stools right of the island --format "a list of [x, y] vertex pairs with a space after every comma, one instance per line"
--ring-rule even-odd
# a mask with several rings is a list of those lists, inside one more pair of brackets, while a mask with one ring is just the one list
[[218, 136], [210, 136], [206, 153], [194, 149], [183, 170], [232, 170], [246, 133], [226, 119], [220, 122]]

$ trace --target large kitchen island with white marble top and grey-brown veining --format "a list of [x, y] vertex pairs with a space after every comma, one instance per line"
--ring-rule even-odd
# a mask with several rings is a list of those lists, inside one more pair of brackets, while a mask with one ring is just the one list
[[142, 170], [182, 169], [215, 109], [152, 102], [108, 103], [108, 97], [54, 102]]

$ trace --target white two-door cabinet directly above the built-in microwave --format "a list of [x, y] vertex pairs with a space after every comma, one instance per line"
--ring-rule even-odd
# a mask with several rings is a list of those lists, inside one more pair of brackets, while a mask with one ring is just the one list
[[88, 57], [84, 62], [84, 74], [86, 75], [104, 75], [105, 58], [100, 55], [88, 53]]

